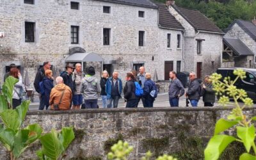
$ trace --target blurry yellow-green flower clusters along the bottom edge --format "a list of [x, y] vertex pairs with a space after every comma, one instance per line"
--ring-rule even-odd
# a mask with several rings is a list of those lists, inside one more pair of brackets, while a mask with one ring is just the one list
[[[108, 153], [108, 159], [109, 160], [112, 160], [112, 159], [126, 160], [129, 154], [132, 152], [132, 150], [133, 150], [133, 147], [129, 146], [129, 144], [126, 141], [123, 142], [119, 140], [118, 143], [116, 143], [111, 147], [112, 152]], [[152, 157], [152, 153], [148, 151], [145, 154], [145, 157], [142, 157], [141, 160], [150, 160], [151, 157]], [[172, 156], [168, 156], [164, 154], [163, 156], [157, 157], [156, 160], [177, 160], [177, 159], [173, 158]]]

